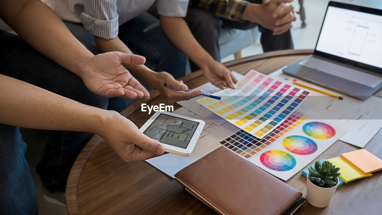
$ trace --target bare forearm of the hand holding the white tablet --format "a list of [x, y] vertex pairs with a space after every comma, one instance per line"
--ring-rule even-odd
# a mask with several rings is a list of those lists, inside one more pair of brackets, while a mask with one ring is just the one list
[[97, 133], [107, 111], [0, 75], [0, 123], [18, 127]]

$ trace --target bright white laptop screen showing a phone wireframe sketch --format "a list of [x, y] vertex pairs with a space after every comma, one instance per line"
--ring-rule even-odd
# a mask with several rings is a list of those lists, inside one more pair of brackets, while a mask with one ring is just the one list
[[375, 15], [329, 4], [316, 51], [382, 68], [382, 14]]

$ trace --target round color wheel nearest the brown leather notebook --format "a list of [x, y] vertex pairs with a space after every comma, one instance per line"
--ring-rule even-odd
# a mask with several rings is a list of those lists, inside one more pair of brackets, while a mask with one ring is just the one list
[[296, 159], [292, 155], [280, 150], [269, 150], [262, 153], [260, 162], [275, 171], [288, 171], [296, 166]]

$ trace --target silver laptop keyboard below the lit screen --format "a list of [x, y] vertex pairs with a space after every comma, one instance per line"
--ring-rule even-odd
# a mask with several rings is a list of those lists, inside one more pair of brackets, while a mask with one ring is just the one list
[[305, 67], [309, 67], [321, 72], [328, 73], [330, 75], [335, 75], [341, 78], [345, 78], [362, 85], [370, 86], [372, 88], [378, 86], [382, 82], [382, 77], [372, 75], [366, 72], [361, 72], [355, 69], [343, 67], [338, 64], [333, 64], [331, 62], [310, 57], [299, 63]]

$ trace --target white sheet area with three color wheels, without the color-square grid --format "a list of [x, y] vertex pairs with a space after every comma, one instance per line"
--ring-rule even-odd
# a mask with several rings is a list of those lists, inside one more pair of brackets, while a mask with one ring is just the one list
[[248, 161], [286, 181], [346, 132], [346, 129], [333, 121], [308, 119]]

